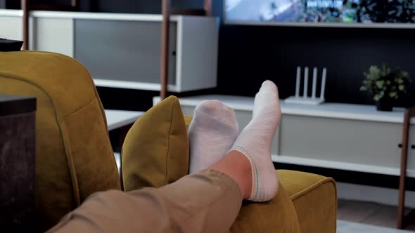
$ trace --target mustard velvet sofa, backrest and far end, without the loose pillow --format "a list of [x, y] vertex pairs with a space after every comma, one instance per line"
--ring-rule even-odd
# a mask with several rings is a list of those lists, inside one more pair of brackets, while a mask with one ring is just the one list
[[[37, 231], [55, 225], [89, 194], [120, 189], [101, 100], [79, 62], [56, 53], [0, 52], [0, 93], [37, 98]], [[184, 120], [189, 126], [191, 116]], [[336, 232], [333, 179], [276, 173], [277, 196], [245, 201], [231, 232]]]

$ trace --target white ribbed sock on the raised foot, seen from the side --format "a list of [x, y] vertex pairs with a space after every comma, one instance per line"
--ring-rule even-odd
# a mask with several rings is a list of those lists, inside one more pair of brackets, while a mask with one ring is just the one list
[[264, 81], [255, 95], [253, 119], [243, 129], [231, 150], [241, 152], [252, 168], [252, 191], [248, 200], [268, 201], [278, 191], [278, 178], [271, 159], [272, 139], [281, 122], [278, 90], [272, 81]]

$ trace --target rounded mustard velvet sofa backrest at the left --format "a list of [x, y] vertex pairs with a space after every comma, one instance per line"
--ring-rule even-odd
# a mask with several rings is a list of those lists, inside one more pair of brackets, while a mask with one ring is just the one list
[[79, 62], [56, 53], [0, 52], [0, 93], [37, 98], [37, 231], [89, 194], [120, 189], [101, 100]]

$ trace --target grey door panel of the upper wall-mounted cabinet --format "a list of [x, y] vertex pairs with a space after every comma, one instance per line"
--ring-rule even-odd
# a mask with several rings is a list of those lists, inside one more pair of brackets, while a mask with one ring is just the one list
[[[169, 84], [176, 84], [177, 22], [170, 23]], [[75, 19], [75, 58], [94, 79], [160, 83], [161, 22]]]

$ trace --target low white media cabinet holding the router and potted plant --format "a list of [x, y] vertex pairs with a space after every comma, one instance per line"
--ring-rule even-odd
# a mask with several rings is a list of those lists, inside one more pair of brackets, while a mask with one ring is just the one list
[[[153, 98], [153, 104], [160, 98]], [[200, 95], [179, 98], [184, 114], [202, 100], [221, 100], [236, 112], [240, 129], [252, 118], [254, 98]], [[272, 160], [345, 171], [400, 175], [398, 147], [404, 109], [378, 112], [375, 106], [325, 103], [288, 104], [281, 100], [282, 119], [272, 145]], [[415, 119], [411, 119], [407, 176], [415, 178]]]

